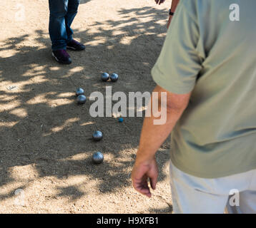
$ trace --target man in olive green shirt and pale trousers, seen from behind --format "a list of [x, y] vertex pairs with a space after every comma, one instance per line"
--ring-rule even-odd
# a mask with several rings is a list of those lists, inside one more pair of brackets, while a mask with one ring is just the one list
[[180, 0], [175, 11], [152, 69], [167, 121], [145, 118], [132, 171], [150, 197], [155, 153], [172, 132], [174, 212], [256, 213], [255, 9], [255, 0]]

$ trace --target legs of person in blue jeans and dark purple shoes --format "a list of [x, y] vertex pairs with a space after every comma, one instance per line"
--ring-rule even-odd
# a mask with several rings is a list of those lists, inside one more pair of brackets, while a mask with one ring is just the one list
[[67, 49], [82, 51], [85, 46], [72, 38], [71, 28], [80, 0], [49, 0], [49, 35], [52, 56], [62, 64], [72, 63]]

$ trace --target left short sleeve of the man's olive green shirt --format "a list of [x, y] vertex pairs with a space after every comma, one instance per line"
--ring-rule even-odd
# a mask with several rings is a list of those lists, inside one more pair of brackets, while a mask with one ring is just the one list
[[154, 81], [172, 93], [195, 88], [202, 59], [197, 51], [200, 38], [196, 1], [179, 1], [162, 51], [152, 68]]

